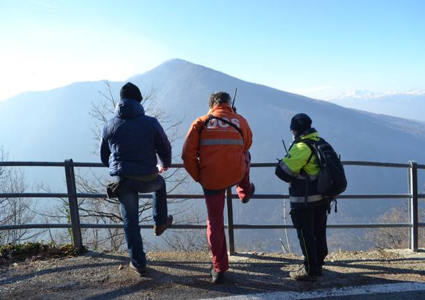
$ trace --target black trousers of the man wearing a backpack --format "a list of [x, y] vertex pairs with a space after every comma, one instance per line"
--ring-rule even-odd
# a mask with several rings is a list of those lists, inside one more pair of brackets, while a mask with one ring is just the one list
[[297, 230], [304, 267], [309, 275], [318, 275], [327, 255], [326, 222], [329, 205], [291, 210], [292, 223]]

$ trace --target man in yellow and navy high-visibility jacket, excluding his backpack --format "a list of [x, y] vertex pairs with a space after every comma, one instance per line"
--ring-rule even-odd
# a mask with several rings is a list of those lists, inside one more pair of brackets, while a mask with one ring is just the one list
[[289, 276], [296, 280], [316, 281], [323, 274], [323, 260], [327, 255], [326, 222], [329, 200], [317, 191], [320, 166], [307, 139], [318, 141], [319, 134], [311, 127], [311, 118], [297, 113], [291, 119], [294, 137], [288, 154], [279, 161], [276, 175], [290, 182], [291, 219], [300, 240], [304, 265]]

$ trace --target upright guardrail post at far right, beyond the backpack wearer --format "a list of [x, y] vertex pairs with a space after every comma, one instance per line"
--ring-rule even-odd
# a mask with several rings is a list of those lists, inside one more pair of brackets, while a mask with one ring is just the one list
[[410, 228], [410, 249], [417, 252], [418, 249], [418, 196], [417, 196], [417, 163], [409, 161], [409, 193], [412, 195], [409, 201], [409, 221], [412, 224]]

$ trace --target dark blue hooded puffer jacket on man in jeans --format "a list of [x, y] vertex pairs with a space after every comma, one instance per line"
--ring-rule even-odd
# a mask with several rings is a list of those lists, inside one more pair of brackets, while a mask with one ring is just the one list
[[157, 155], [162, 166], [171, 164], [171, 145], [156, 118], [145, 115], [136, 100], [122, 99], [108, 121], [100, 140], [100, 159], [109, 174], [148, 175], [157, 173]]

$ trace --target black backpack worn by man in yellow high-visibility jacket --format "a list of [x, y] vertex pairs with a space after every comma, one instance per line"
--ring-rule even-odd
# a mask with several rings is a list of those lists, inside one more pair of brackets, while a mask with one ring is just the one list
[[322, 138], [319, 141], [302, 139], [295, 143], [304, 143], [311, 150], [310, 161], [316, 155], [320, 172], [318, 174], [317, 191], [327, 198], [335, 198], [347, 188], [346, 173], [341, 164], [341, 159], [334, 148]]

